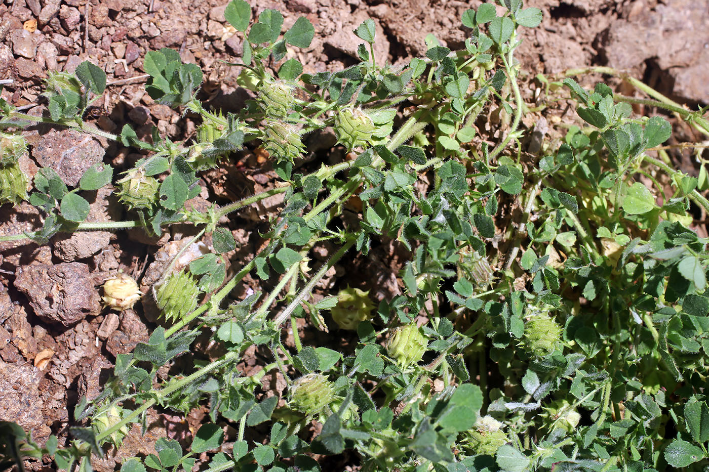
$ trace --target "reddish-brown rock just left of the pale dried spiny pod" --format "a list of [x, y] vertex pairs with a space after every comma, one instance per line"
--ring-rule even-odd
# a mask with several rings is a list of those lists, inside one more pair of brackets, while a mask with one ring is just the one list
[[19, 267], [14, 285], [26, 294], [35, 315], [71, 326], [101, 310], [99, 292], [88, 279], [86, 264], [36, 264]]

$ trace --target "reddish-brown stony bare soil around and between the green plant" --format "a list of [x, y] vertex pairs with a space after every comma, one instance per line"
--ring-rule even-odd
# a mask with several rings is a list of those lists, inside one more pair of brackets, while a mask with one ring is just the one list
[[[184, 140], [194, 134], [191, 117], [155, 103], [143, 89], [146, 75], [143, 56], [148, 50], [172, 47], [185, 62], [199, 64], [204, 72], [201, 99], [235, 110], [250, 96], [240, 89], [240, 69], [220, 60], [235, 61], [242, 53], [240, 35], [223, 17], [226, 0], [5, 0], [0, 3], [0, 79], [13, 79], [2, 97], [26, 113], [41, 114], [45, 106], [40, 84], [46, 71], [72, 72], [77, 64], [91, 60], [108, 74], [104, 97], [89, 110], [89, 120], [109, 132], [123, 124], [149, 139], [156, 126], [161, 135]], [[452, 49], [462, 47], [469, 31], [460, 26], [461, 14], [481, 2], [458, 0], [259, 0], [253, 13], [278, 9], [284, 15], [284, 30], [299, 16], [306, 16], [316, 28], [307, 50], [296, 55], [305, 72], [342, 69], [357, 62], [358, 43], [352, 30], [366, 18], [374, 18], [378, 38], [377, 62], [403, 63], [425, 53], [425, 35], [431, 33]], [[608, 65], [630, 71], [647, 84], [681, 103], [691, 106], [709, 103], [709, 3], [691, 0], [534, 0], [544, 13], [542, 25], [525, 30], [518, 58], [527, 72], [523, 91], [527, 103], [540, 101], [535, 91], [536, 74], [554, 74], [571, 67]], [[279, 64], [272, 64], [277, 69]], [[600, 77], [586, 77], [592, 84]], [[624, 93], [619, 81], [613, 85]], [[541, 119], [553, 123], [571, 117], [574, 111], [557, 108]], [[532, 128], [539, 119], [525, 122]], [[677, 124], [674, 140], [696, 142], [688, 127]], [[481, 125], [481, 128], [486, 128]], [[539, 128], [537, 128], [538, 130]], [[481, 129], [485, 135], [490, 129]], [[542, 135], [544, 131], [542, 130]], [[97, 140], [70, 130], [36, 127], [26, 133], [30, 154], [23, 157], [28, 174], [38, 167], [57, 170], [67, 184], [76, 184], [82, 172], [103, 159], [118, 171], [127, 169], [141, 154], [114, 142]], [[495, 139], [494, 136], [490, 137]], [[333, 135], [308, 137], [313, 160], [336, 162], [343, 150], [323, 155], [335, 142]], [[337, 154], [337, 153], [340, 154]], [[61, 158], [60, 158], [61, 157]], [[691, 153], [676, 151], [676, 163], [696, 175]], [[245, 150], [219, 169], [202, 176], [203, 191], [189, 202], [206, 208], [207, 200], [225, 203], [272, 186], [274, 172], [264, 156]], [[111, 189], [94, 192], [89, 220], [121, 218]], [[262, 201], [237, 215], [225, 218], [233, 230], [238, 249], [230, 254], [240, 266], [264, 243], [259, 230], [264, 220], [281, 203], [282, 196]], [[352, 208], [353, 212], [357, 208]], [[353, 213], [354, 214], [354, 213]], [[698, 214], [696, 230], [706, 236], [705, 215]], [[0, 207], [0, 235], [36, 230], [41, 225], [38, 210], [23, 203]], [[145, 342], [156, 326], [150, 296], [135, 310], [120, 315], [102, 308], [99, 286], [119, 269], [138, 279], [143, 293], [162, 274], [174, 254], [188, 241], [190, 227], [172, 227], [160, 238], [147, 238], [138, 231], [86, 232], [58, 235], [45, 247], [33, 243], [0, 243], [0, 420], [16, 421], [33, 431], [43, 444], [50, 434], [67, 438], [73, 425], [72, 412], [80, 395], [98, 395], [101, 384], [117, 354], [128, 353]], [[182, 266], [207, 250], [193, 244], [180, 259]], [[326, 259], [331, 248], [316, 248], [316, 258]], [[372, 290], [373, 298], [391, 298], [401, 289], [397, 280], [401, 248], [393, 244], [375, 247], [367, 258], [337, 266], [323, 279], [320, 293], [347, 285]], [[259, 288], [247, 277], [235, 296]], [[351, 339], [342, 333], [306, 331], [321, 344], [334, 343], [347, 349]], [[292, 338], [289, 339], [292, 343]], [[200, 356], [216, 356], [208, 343]], [[253, 350], [242, 369], [251, 375], [260, 369], [259, 353]], [[195, 354], [196, 355], [196, 354]], [[253, 372], [249, 372], [253, 371]], [[264, 390], [283, 390], [283, 379], [274, 372], [264, 376]], [[159, 437], [169, 436], [189, 444], [191, 431], [199, 427], [206, 412], [189, 417], [167, 411], [150, 413], [149, 434], [140, 437], [135, 426], [123, 447], [96, 464], [100, 472], [113, 471], [123, 458], [153, 451]], [[118, 465], [117, 465], [118, 464]], [[33, 469], [50, 466], [28, 463]], [[333, 469], [335, 470], [335, 469]]]

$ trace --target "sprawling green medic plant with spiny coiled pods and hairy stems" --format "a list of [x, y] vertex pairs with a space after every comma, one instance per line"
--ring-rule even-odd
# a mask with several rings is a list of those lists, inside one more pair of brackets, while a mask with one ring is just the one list
[[[18, 463], [49, 454], [58, 468], [91, 471], [92, 457], [120, 448], [132, 423], [146, 427], [150, 408], [187, 415], [204, 405], [208, 419], [189, 448], [159, 439], [157, 455], [127, 459], [121, 470], [316, 471], [328, 470], [322, 458], [334, 454], [350, 454], [363, 471], [704, 466], [707, 241], [688, 227], [691, 205], [709, 210], [706, 171], [697, 179], [671, 167], [661, 147], [671, 126], [633, 116], [629, 103], [640, 99], [605, 84], [588, 91], [571, 72], [561, 82], [541, 79], [549, 93], [571, 93], [580, 120], [539, 154], [522, 152], [529, 110], [517, 29], [537, 26], [542, 13], [520, 0], [501, 6], [501, 14], [491, 3], [463, 14], [463, 50], [430, 36], [425, 57], [405, 67], [374, 61], [374, 22], [364, 21], [354, 31], [364, 42], [357, 64], [303, 74], [289, 46], [311, 44], [311, 23], [298, 18], [281, 35], [281, 13], [265, 9], [254, 21], [249, 4], [231, 1], [225, 18], [244, 38], [232, 65], [254, 92], [239, 113], [208, 109], [198, 99], [200, 69], [176, 51], [145, 55], [152, 99], [201, 118], [186, 142], [157, 130], [145, 142], [130, 125], [111, 135], [85, 123], [106, 87], [89, 62], [50, 75], [48, 116], [0, 103], [1, 201], [28, 199], [44, 217], [41, 230], [0, 240], [47, 244], [58, 232], [132, 227], [160, 235], [180, 223], [196, 227], [193, 242], [210, 236], [213, 249], [179, 270], [171, 264], [155, 283], [147, 296], [162, 310], [160, 325], [116, 356], [98, 397], [74, 408], [65, 446], [52, 436], [40, 447], [7, 423], [0, 454]], [[652, 97], [643, 104], [709, 134], [703, 111], [626, 79]], [[493, 146], [478, 136], [491, 111], [503, 117]], [[145, 157], [126, 169], [97, 164], [72, 189], [43, 168], [27, 193], [20, 130], [34, 121], [118, 140]], [[304, 140], [326, 127], [351, 159], [306, 162]], [[184, 210], [201, 191], [201, 172], [256, 146], [279, 176], [272, 189]], [[83, 193], [108, 184], [130, 218], [86, 223]], [[267, 243], [227, 270], [236, 241], [220, 221], [277, 194], [284, 203]], [[515, 206], [522, 211], [510, 218]], [[352, 208], [356, 218], [345, 218]], [[382, 241], [408, 254], [401, 295], [318, 288], [336, 264], [367, 257]], [[324, 242], [334, 249], [315, 266], [308, 254]], [[232, 298], [247, 274], [263, 290]], [[316, 300], [316, 291], [325, 297]], [[299, 319], [354, 342], [306, 344]], [[194, 352], [193, 365], [157, 376], [205, 332], [220, 346], [216, 359]], [[293, 347], [284, 343], [289, 332]], [[270, 357], [245, 376], [238, 364], [250, 347]], [[283, 398], [261, 382], [274, 370], [287, 383]]]

